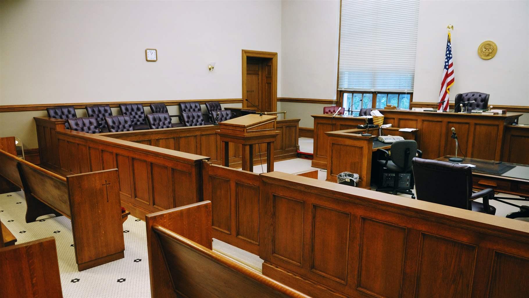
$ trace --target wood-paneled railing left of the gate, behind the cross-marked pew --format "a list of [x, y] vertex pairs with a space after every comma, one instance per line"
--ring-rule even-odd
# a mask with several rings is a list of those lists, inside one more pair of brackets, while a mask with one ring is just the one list
[[200, 162], [208, 159], [206, 156], [108, 138], [103, 134], [62, 130], [57, 131], [57, 137], [60, 143], [69, 144], [61, 146], [59, 152], [67, 148], [69, 154], [61, 154], [61, 169], [54, 170], [66, 176], [79, 174], [80, 168], [71, 166], [77, 164], [86, 165], [87, 170], [117, 168], [122, 205], [135, 217], [202, 200]]

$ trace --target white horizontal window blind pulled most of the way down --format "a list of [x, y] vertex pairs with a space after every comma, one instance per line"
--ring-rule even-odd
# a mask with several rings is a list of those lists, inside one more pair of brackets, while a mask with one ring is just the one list
[[342, 0], [338, 88], [413, 92], [418, 0]]

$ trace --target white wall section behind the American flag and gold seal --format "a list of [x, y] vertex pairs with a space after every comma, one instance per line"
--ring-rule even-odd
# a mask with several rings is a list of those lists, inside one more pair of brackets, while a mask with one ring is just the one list
[[[490, 94], [489, 104], [529, 105], [529, 1], [421, 1], [413, 100], [439, 98], [446, 48], [446, 25], [454, 25], [452, 51], [455, 94]], [[498, 46], [482, 60], [478, 46]]]

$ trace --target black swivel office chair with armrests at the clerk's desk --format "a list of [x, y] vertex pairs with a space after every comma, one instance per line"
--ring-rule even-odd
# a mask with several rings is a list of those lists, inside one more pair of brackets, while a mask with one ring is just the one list
[[[402, 140], [396, 141], [391, 144], [391, 154], [384, 149], [378, 149], [379, 154], [379, 187], [377, 192], [391, 192], [392, 194], [403, 193], [412, 195], [415, 198], [415, 194], [411, 191], [413, 189], [413, 172], [412, 172], [412, 159], [418, 155], [421, 157], [423, 152], [417, 149], [417, 142], [414, 140]], [[384, 159], [380, 159], [380, 155]], [[388, 177], [384, 177], [384, 174], [394, 174]], [[387, 175], [388, 176], [388, 175]], [[384, 179], [393, 182], [392, 187], [384, 187]]]

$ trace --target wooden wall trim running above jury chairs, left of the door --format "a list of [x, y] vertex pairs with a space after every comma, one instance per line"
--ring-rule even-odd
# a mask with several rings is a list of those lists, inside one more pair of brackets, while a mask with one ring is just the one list
[[87, 102], [87, 103], [49, 103], [49, 104], [17, 104], [17, 105], [0, 105], [0, 113], [6, 112], [29, 112], [29, 111], [45, 111], [48, 107], [73, 105], [75, 109], [84, 109], [87, 105], [107, 104], [110, 107], [118, 107], [120, 104], [127, 103], [141, 103], [143, 106], [149, 106], [151, 103], [165, 103], [166, 105], [178, 105], [181, 102], [199, 102], [205, 104], [207, 102], [225, 103], [242, 103], [242, 98], [214, 98], [209, 100], [174, 100], [174, 101], [123, 101], [123, 102]]

